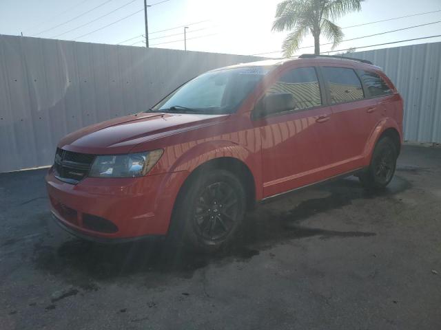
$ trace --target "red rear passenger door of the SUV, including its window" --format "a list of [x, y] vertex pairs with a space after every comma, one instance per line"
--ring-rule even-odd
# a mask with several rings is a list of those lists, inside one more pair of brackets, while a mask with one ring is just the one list
[[331, 159], [338, 172], [344, 173], [362, 166], [362, 153], [370, 135], [367, 115], [376, 104], [365, 98], [360, 78], [352, 67], [322, 65], [320, 71], [332, 110]]

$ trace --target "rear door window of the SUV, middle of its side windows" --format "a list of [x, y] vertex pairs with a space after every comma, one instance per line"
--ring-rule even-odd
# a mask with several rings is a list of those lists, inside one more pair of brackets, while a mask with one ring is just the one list
[[322, 67], [331, 103], [360, 100], [365, 97], [360, 79], [347, 67]]

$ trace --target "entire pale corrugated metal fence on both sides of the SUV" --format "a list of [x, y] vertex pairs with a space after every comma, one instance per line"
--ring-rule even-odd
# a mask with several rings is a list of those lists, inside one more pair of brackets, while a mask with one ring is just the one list
[[[441, 43], [356, 52], [404, 98], [404, 138], [441, 142]], [[0, 35], [0, 173], [51, 164], [61, 137], [151, 107], [168, 91], [252, 56]]]

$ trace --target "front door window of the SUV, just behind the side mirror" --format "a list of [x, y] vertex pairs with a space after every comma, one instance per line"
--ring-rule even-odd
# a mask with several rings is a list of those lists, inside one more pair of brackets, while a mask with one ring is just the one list
[[299, 67], [283, 74], [267, 89], [267, 94], [289, 93], [296, 101], [296, 110], [322, 105], [320, 85], [314, 67]]

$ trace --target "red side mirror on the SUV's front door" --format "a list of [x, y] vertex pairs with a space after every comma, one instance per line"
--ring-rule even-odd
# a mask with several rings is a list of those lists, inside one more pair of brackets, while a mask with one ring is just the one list
[[253, 118], [263, 118], [273, 113], [294, 110], [296, 101], [290, 93], [276, 93], [264, 96], [254, 109]]

